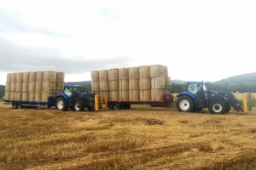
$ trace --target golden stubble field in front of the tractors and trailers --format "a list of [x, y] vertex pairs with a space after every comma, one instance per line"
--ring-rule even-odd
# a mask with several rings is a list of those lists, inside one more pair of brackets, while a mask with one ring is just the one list
[[256, 169], [256, 108], [226, 115], [13, 110], [0, 103], [0, 169]]

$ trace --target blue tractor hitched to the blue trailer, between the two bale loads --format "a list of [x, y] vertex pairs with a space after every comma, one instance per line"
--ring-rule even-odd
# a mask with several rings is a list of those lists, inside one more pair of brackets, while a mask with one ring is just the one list
[[94, 111], [94, 94], [82, 93], [79, 85], [64, 85], [63, 92], [56, 96], [55, 107], [61, 111]]

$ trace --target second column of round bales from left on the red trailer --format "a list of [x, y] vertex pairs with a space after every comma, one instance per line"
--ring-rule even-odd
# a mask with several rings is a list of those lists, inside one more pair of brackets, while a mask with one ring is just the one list
[[108, 82], [108, 70], [99, 71], [99, 82], [100, 82], [100, 94], [107, 95], [109, 101], [109, 82]]

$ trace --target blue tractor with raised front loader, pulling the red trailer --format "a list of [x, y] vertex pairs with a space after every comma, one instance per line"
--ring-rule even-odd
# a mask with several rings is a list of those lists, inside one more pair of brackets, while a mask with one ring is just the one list
[[185, 82], [185, 91], [177, 95], [177, 111], [198, 112], [208, 108], [211, 113], [224, 114], [231, 106], [242, 111], [241, 103], [231, 92], [209, 91], [205, 82]]

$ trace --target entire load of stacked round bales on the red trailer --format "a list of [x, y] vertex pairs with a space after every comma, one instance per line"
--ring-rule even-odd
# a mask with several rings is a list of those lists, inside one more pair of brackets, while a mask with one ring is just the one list
[[108, 101], [159, 102], [171, 94], [171, 78], [165, 65], [91, 71], [91, 93]]

